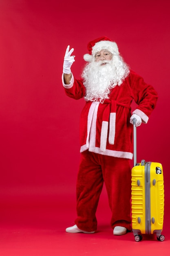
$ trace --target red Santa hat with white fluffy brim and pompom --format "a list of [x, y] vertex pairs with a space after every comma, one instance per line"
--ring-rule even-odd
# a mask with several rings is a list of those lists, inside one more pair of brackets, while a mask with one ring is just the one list
[[83, 56], [84, 60], [87, 62], [91, 62], [95, 54], [100, 52], [102, 49], [107, 49], [112, 54], [119, 54], [117, 44], [110, 40], [107, 36], [102, 36], [89, 42], [87, 49], [89, 53]]

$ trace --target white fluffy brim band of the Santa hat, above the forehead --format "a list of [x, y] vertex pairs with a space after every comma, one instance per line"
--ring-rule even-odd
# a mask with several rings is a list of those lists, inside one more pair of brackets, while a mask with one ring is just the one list
[[99, 41], [95, 43], [92, 47], [92, 55], [95, 55], [97, 52], [100, 52], [102, 49], [107, 49], [112, 54], [119, 54], [119, 49], [117, 47], [117, 43], [111, 41]]

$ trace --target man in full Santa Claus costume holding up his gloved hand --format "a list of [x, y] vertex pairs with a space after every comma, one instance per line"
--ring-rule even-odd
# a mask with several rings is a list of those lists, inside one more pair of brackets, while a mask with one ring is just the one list
[[[135, 117], [136, 126], [148, 122], [157, 92], [130, 70], [117, 44], [106, 36], [91, 41], [87, 48], [81, 79], [75, 79], [71, 72], [75, 56], [69, 45], [63, 64], [66, 95], [73, 99], [84, 97], [86, 101], [80, 118], [77, 218], [66, 232], [91, 234], [97, 230], [95, 213], [105, 183], [113, 234], [123, 235], [131, 230], [132, 120]], [[131, 115], [133, 100], [138, 107]]]

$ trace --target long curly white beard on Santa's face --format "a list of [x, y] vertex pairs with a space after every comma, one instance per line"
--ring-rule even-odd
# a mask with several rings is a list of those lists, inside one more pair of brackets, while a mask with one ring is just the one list
[[[102, 63], [106, 63], [102, 65]], [[111, 61], [88, 63], [82, 73], [86, 88], [86, 101], [103, 102], [109, 99], [110, 89], [121, 85], [128, 76], [129, 68], [121, 56], [113, 56]]]

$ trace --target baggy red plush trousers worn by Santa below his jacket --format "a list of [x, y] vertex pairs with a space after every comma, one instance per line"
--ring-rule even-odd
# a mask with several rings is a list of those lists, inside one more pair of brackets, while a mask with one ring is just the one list
[[75, 224], [85, 231], [97, 230], [96, 210], [105, 182], [109, 206], [112, 211], [110, 225], [131, 230], [130, 160], [91, 153], [81, 154], [77, 176], [77, 219]]

